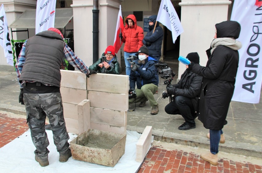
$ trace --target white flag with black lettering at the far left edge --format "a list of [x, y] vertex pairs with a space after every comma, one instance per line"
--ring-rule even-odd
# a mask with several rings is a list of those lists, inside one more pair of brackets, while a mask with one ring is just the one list
[[14, 65], [4, 5], [0, 7], [0, 45], [4, 48], [7, 64]]

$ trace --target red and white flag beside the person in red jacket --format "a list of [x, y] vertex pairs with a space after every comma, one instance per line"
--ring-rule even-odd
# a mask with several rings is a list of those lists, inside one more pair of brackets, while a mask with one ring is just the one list
[[121, 32], [123, 32], [123, 30], [124, 30], [124, 23], [123, 23], [121, 5], [120, 5], [118, 16], [117, 16], [117, 27], [116, 27], [116, 33], [115, 33], [115, 39], [114, 39], [115, 53], [117, 53], [118, 50], [121, 48], [122, 41], [121, 41], [121, 38], [119, 38], [118, 36]]

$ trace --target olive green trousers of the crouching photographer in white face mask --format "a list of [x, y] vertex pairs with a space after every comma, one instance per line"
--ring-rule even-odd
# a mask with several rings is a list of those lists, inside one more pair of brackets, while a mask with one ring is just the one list
[[136, 98], [130, 98], [128, 100], [129, 104], [143, 102], [145, 100], [149, 100], [150, 106], [155, 107], [158, 105], [157, 101], [154, 98], [154, 93], [157, 92], [157, 85], [154, 84], [146, 84], [141, 87], [141, 89], [136, 89]]

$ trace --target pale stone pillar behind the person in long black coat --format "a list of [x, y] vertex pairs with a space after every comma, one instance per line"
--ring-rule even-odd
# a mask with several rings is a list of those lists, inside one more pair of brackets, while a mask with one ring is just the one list
[[[208, 60], [205, 50], [209, 49], [215, 35], [215, 24], [228, 19], [229, 0], [182, 0], [181, 24], [184, 32], [180, 37], [179, 54], [186, 56], [197, 52], [200, 65], [205, 66]], [[185, 65], [179, 63], [178, 78], [185, 71]]]

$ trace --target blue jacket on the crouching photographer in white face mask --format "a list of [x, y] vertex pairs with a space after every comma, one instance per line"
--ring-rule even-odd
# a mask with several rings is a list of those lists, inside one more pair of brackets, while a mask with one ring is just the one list
[[156, 59], [148, 57], [145, 64], [137, 64], [140, 66], [137, 71], [131, 70], [130, 89], [135, 88], [136, 82], [138, 89], [141, 89], [141, 87], [146, 84], [158, 85], [158, 75], [155, 62], [157, 62]]

